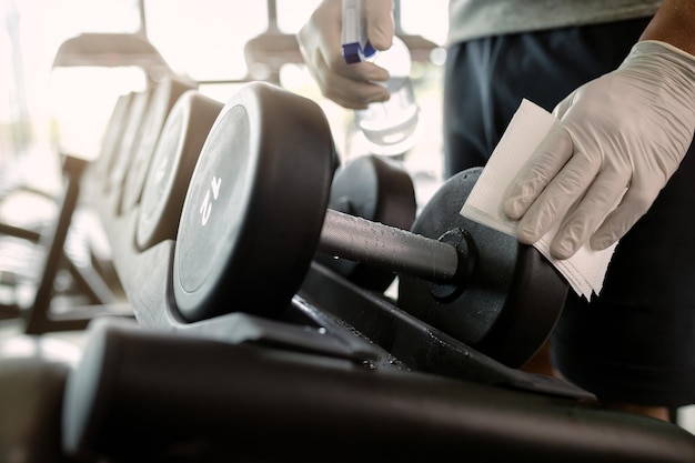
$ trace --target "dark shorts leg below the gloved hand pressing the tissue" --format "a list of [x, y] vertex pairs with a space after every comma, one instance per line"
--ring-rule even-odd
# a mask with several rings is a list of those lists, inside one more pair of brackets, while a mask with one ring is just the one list
[[552, 338], [565, 378], [608, 402], [695, 403], [695, 149], [621, 240], [601, 295], [571, 294]]

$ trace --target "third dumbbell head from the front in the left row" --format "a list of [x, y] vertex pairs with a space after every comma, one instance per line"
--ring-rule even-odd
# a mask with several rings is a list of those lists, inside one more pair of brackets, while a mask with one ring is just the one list
[[171, 77], [157, 84], [150, 108], [143, 121], [140, 143], [128, 167], [119, 213], [131, 210], [140, 202], [144, 180], [150, 170], [154, 149], [164, 122], [179, 97], [188, 90], [193, 90], [193, 88], [191, 83]]

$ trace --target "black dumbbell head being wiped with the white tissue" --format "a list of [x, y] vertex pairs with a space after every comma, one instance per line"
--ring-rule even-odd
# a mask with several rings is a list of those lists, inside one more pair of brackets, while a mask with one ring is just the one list
[[471, 348], [508, 365], [531, 359], [553, 331], [567, 284], [533, 246], [462, 217], [459, 211], [482, 169], [452, 177], [415, 220], [427, 238], [465, 231], [474, 255], [460, 289], [399, 275], [399, 306]]

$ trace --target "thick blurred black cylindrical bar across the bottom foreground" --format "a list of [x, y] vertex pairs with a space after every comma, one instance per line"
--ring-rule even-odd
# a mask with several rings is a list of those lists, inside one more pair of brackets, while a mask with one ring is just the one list
[[66, 394], [70, 454], [167, 461], [188, 447], [195, 461], [695, 459], [695, 437], [678, 426], [573, 400], [104, 320], [90, 331]]

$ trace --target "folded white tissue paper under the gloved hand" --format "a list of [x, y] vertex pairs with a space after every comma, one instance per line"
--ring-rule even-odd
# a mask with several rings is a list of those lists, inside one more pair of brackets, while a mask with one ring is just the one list
[[[531, 159], [555, 123], [558, 122], [553, 114], [528, 100], [523, 100], [461, 209], [461, 214], [492, 229], [516, 235], [517, 221], [510, 220], [502, 210], [505, 193], [516, 173]], [[615, 244], [603, 251], [593, 251], [585, 244], [570, 259], [553, 259], [550, 248], [557, 228], [558, 225], [548, 231], [533, 245], [560, 271], [578, 295], [591, 300], [592, 292], [600, 294], [603, 288]]]

